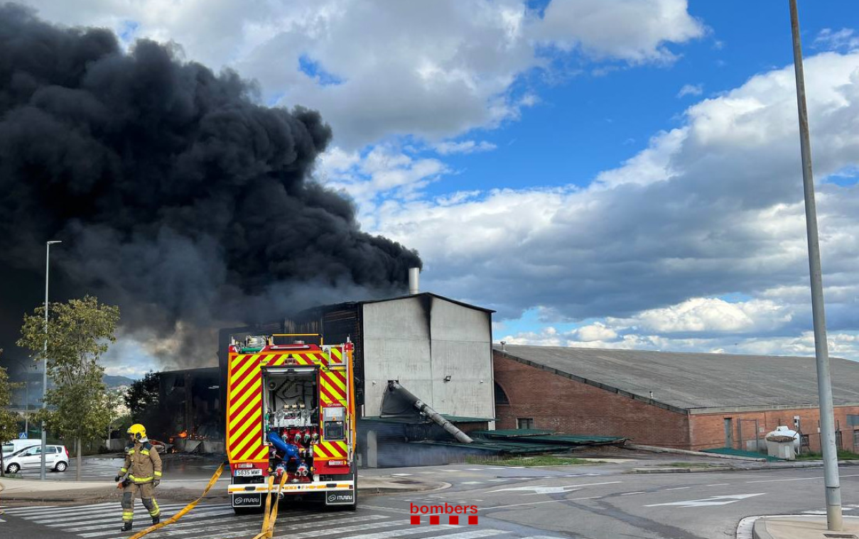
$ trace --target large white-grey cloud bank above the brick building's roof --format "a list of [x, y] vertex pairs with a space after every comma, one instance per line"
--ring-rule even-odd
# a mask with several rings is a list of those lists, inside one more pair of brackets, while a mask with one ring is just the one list
[[[806, 70], [822, 180], [859, 164], [859, 53], [819, 54]], [[372, 228], [421, 252], [425, 288], [497, 309], [499, 318], [539, 308], [552, 324], [595, 318], [618, 335], [611, 318], [637, 318], [653, 333], [645, 340], [776, 328], [798, 335], [810, 324], [807, 300], [781, 297], [799, 298], [807, 286], [797, 140], [789, 66], [689, 107], [683, 125], [587, 188], [392, 202]], [[851, 288], [859, 189], [819, 181], [817, 194], [830, 322], [843, 332], [859, 327]], [[685, 303], [731, 293], [751, 299]], [[605, 342], [638, 342], [630, 338]], [[731, 351], [734, 342], [705, 344]]]

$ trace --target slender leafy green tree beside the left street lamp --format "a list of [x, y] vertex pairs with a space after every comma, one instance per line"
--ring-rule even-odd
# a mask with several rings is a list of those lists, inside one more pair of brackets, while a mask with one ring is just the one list
[[[18, 346], [28, 348], [37, 361], [47, 361], [54, 386], [46, 391], [37, 421], [75, 443], [77, 479], [81, 478], [82, 440], [100, 439], [113, 419], [113, 409], [102, 381], [101, 354], [107, 352], [119, 322], [119, 307], [99, 303], [93, 296], [68, 303], [52, 303], [47, 332], [45, 307], [24, 315]], [[47, 352], [45, 340], [47, 338]]]

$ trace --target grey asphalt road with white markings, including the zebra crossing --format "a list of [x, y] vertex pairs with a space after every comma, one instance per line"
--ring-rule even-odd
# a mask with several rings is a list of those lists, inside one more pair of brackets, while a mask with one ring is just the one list
[[[387, 475], [430, 476], [452, 486], [423, 495], [364, 496], [357, 512], [320, 507], [283, 508], [275, 536], [284, 539], [550, 539], [640, 537], [697, 539], [735, 537], [751, 515], [821, 512], [822, 469], [690, 474], [624, 474], [622, 466], [511, 469], [451, 465], [387, 469]], [[375, 470], [374, 470], [375, 472]], [[845, 514], [859, 513], [859, 468], [841, 470]], [[447, 516], [411, 524], [411, 506], [476, 506], [477, 523]], [[182, 504], [162, 504], [172, 514]], [[137, 504], [138, 529], [149, 518]], [[119, 539], [116, 503], [9, 508], [3, 537]], [[180, 522], [148, 537], [240, 539], [259, 531], [261, 517], [235, 517], [230, 507], [205, 504]], [[8, 532], [8, 533], [7, 533]]]

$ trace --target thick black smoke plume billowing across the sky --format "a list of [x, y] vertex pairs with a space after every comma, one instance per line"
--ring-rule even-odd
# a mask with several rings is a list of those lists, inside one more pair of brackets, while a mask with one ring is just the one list
[[97, 294], [153, 336], [402, 292], [417, 253], [308, 181], [331, 136], [170, 46], [0, 6], [0, 348], [41, 301], [46, 239], [54, 298]]

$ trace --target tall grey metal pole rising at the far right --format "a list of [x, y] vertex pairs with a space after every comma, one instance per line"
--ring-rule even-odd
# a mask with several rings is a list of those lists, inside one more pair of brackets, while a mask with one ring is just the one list
[[806, 227], [808, 236], [808, 269], [811, 274], [811, 309], [814, 323], [814, 353], [817, 358], [817, 391], [820, 401], [820, 446], [826, 486], [826, 529], [843, 529], [841, 487], [838, 480], [838, 451], [835, 447], [835, 415], [832, 410], [832, 380], [829, 374], [829, 350], [826, 344], [826, 316], [823, 306], [823, 278], [820, 270], [820, 245], [817, 233], [817, 208], [814, 203], [814, 177], [811, 169], [811, 142], [808, 136], [805, 76], [802, 71], [800, 21], [796, 0], [790, 0], [790, 29], [794, 39], [796, 71], [796, 104], [800, 118], [802, 185], [805, 188]]

